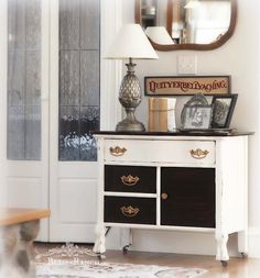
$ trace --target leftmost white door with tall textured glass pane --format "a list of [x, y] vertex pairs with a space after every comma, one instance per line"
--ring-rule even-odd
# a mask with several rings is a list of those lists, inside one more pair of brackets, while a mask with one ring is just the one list
[[[4, 207], [48, 208], [48, 0], [1, 0]], [[44, 97], [43, 97], [44, 96]], [[48, 220], [37, 240], [48, 240]]]

